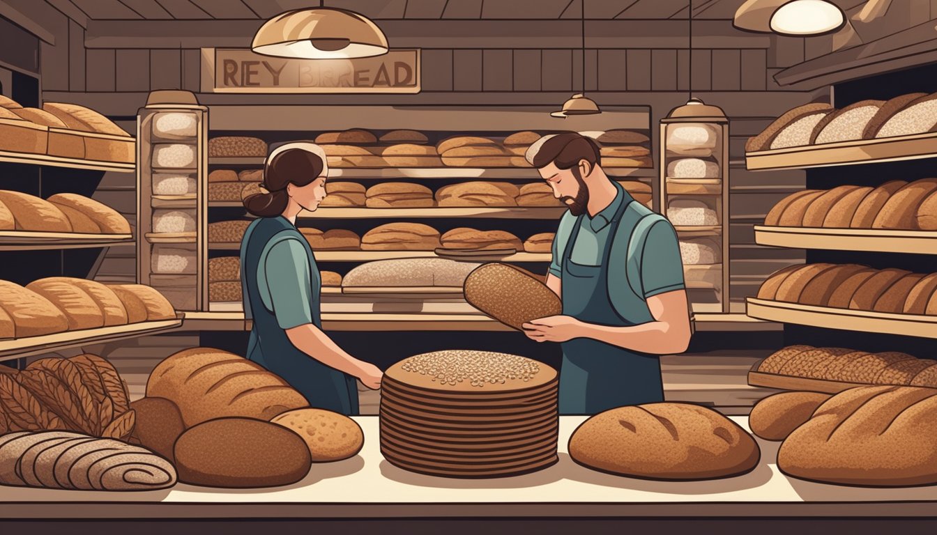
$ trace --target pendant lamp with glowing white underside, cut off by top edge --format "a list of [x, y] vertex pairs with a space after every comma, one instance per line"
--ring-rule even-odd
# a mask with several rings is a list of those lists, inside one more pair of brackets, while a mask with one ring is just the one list
[[823, 36], [846, 23], [842, 9], [829, 0], [747, 0], [732, 24], [750, 32], [781, 36]]

